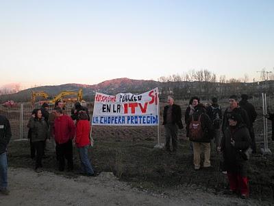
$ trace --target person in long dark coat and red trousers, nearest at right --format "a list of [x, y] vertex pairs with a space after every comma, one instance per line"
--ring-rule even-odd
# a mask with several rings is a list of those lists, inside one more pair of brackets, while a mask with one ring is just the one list
[[247, 161], [242, 157], [242, 152], [251, 146], [251, 138], [247, 126], [242, 124], [242, 117], [238, 113], [232, 113], [228, 121], [229, 126], [225, 129], [218, 150], [223, 151], [230, 193], [239, 192], [242, 198], [247, 198], [249, 195]]

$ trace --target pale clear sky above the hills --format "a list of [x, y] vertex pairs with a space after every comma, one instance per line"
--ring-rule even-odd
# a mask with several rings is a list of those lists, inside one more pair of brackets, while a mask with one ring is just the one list
[[274, 1], [1, 1], [0, 87], [274, 67]]

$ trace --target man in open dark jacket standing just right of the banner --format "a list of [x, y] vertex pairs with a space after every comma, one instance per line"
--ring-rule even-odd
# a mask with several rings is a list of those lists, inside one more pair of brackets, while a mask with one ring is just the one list
[[[166, 137], [166, 150], [171, 152], [170, 140], [172, 140], [173, 152], [177, 151], [177, 133], [178, 128], [184, 128], [182, 124], [182, 110], [171, 96], [168, 98], [168, 104], [164, 106], [164, 135]], [[177, 128], [178, 127], [178, 128]]]

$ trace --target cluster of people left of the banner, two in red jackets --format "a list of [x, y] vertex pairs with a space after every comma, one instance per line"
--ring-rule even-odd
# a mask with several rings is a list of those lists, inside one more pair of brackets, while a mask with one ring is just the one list
[[51, 113], [48, 108], [49, 105], [44, 103], [41, 108], [34, 109], [27, 124], [31, 157], [36, 157], [36, 172], [41, 172], [46, 142], [47, 139], [51, 139], [51, 143], [55, 146], [60, 172], [65, 169], [65, 160], [67, 161], [67, 170], [73, 171], [73, 141], [75, 141], [81, 161], [79, 173], [87, 176], [94, 175], [94, 170], [88, 159], [91, 130], [88, 108], [76, 102], [71, 116], [66, 114], [63, 102], [60, 100], [55, 103], [55, 108]]

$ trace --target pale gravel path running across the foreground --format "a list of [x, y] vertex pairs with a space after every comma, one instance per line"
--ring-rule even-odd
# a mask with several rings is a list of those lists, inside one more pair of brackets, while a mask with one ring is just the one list
[[[110, 172], [74, 178], [26, 168], [10, 168], [10, 195], [0, 205], [262, 205], [257, 200], [215, 195], [199, 190], [138, 190]], [[171, 195], [170, 195], [171, 194]], [[265, 205], [265, 204], [264, 204]], [[271, 205], [271, 203], [269, 203]]]

